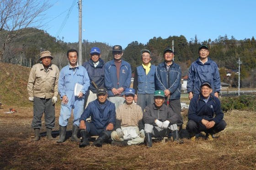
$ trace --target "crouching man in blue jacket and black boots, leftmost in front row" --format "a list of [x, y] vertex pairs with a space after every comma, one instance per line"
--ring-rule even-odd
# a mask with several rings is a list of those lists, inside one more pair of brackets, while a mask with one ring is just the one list
[[[97, 99], [90, 102], [85, 108], [80, 118], [80, 134], [82, 143], [79, 147], [90, 145], [89, 137], [99, 135], [98, 139], [93, 143], [97, 147], [101, 147], [103, 142], [110, 139], [110, 135], [116, 124], [116, 111], [114, 103], [107, 100], [106, 88], [97, 90]], [[91, 117], [91, 122], [86, 118]]]

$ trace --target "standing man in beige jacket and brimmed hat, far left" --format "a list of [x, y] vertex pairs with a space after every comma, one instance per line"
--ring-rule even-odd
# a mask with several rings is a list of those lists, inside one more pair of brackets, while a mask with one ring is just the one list
[[59, 68], [52, 64], [52, 59], [51, 52], [41, 52], [39, 58], [40, 63], [32, 67], [28, 78], [28, 100], [34, 102], [33, 120], [31, 124], [35, 131], [34, 141], [40, 139], [43, 113], [47, 139], [53, 139], [52, 129], [55, 125], [55, 103], [59, 94]]

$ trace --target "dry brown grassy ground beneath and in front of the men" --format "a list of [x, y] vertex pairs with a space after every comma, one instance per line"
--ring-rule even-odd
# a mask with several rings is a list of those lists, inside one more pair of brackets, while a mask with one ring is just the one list
[[[256, 169], [256, 112], [235, 110], [225, 113], [227, 127], [213, 141], [184, 139], [184, 144], [155, 141], [152, 148], [145, 144], [79, 148], [78, 143], [70, 139], [61, 144], [48, 141], [44, 137], [44, 123], [41, 139], [32, 142], [32, 106], [15, 108], [17, 113], [4, 113], [9, 108], [0, 109], [0, 170]], [[59, 106], [53, 129], [56, 139], [58, 118]], [[69, 121], [69, 137], [71, 129]]]

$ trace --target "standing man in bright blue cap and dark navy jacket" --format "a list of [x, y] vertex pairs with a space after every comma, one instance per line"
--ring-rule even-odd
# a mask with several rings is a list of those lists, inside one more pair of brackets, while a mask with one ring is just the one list
[[88, 62], [84, 62], [83, 64], [90, 78], [90, 87], [85, 96], [85, 108], [87, 107], [88, 103], [96, 100], [97, 88], [105, 87], [104, 61], [101, 59], [101, 50], [98, 47], [92, 47], [90, 56], [90, 60]]

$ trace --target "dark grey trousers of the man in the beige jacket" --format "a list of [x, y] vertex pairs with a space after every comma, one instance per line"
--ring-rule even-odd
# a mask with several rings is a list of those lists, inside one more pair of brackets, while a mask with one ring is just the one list
[[42, 127], [41, 118], [44, 113], [45, 126], [53, 129], [55, 125], [55, 105], [52, 103], [52, 98], [37, 98], [34, 97], [33, 120], [32, 128], [40, 129]]

